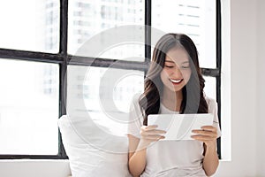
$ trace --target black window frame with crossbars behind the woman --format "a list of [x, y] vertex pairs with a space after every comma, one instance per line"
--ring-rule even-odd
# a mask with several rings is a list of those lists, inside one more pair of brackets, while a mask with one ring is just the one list
[[[148, 63], [151, 58], [151, 0], [145, 1], [145, 61], [133, 62], [133, 61], [118, 61], [115, 67], [120, 69], [133, 69], [143, 71], [146, 75], [148, 71]], [[149, 27], [148, 27], [149, 26]], [[90, 65], [109, 67], [117, 61], [117, 59], [106, 59], [106, 58], [88, 58], [72, 56], [67, 53], [67, 32], [68, 32], [68, 0], [60, 0], [60, 39], [59, 39], [59, 51], [56, 54], [46, 52], [35, 52], [28, 50], [11, 50], [11, 49], [0, 49], [0, 59], [17, 59], [26, 61], [36, 61], [42, 63], [58, 64], [59, 65], [59, 117], [66, 114], [64, 105], [64, 93], [66, 93], [65, 78], [67, 65], [69, 65], [70, 59], [74, 57], [74, 62], [71, 61], [71, 65]], [[216, 102], [218, 104], [218, 117], [221, 123], [221, 0], [216, 0], [216, 68], [201, 68], [204, 76], [216, 78]], [[67, 159], [67, 155], [64, 150], [62, 137], [60, 131], [58, 131], [58, 142], [59, 149], [58, 154], [55, 156], [51, 155], [12, 155], [4, 154], [0, 155], [0, 159]], [[217, 153], [221, 158], [221, 139], [217, 139]]]

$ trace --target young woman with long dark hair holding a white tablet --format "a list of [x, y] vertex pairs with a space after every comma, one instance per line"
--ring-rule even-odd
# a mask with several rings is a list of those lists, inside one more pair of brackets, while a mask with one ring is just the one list
[[[133, 98], [128, 135], [133, 176], [198, 177], [216, 172], [216, 138], [221, 135], [217, 104], [203, 88], [193, 41], [187, 35], [163, 35], [155, 45], [144, 93]], [[166, 132], [148, 126], [148, 115], [158, 113], [213, 113], [215, 118], [213, 125], [193, 130], [193, 141], [159, 141]]]

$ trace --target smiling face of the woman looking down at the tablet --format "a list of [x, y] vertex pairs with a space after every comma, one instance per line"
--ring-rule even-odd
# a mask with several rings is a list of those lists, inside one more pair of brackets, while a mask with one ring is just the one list
[[166, 53], [163, 70], [160, 73], [163, 86], [172, 91], [180, 91], [191, 77], [189, 56], [183, 48], [173, 48]]

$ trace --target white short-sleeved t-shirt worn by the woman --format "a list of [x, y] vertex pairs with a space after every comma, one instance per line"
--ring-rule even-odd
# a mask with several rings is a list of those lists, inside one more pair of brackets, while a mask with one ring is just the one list
[[[143, 125], [143, 116], [138, 103], [140, 95], [133, 97], [131, 105], [128, 134], [140, 138], [140, 127]], [[218, 137], [221, 135], [217, 104], [214, 99], [206, 97], [208, 112], [214, 114], [213, 126], [217, 128]], [[178, 113], [167, 109], [160, 104], [160, 114]], [[203, 143], [195, 140], [186, 141], [158, 141], [147, 149], [147, 165], [141, 177], [155, 176], [206, 176], [202, 169]]]

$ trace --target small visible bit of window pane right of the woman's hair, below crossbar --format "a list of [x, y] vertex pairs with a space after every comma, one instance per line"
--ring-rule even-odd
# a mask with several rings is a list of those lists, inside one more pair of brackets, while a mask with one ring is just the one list
[[216, 78], [215, 77], [206, 77], [203, 76], [205, 79], [205, 94], [208, 97], [216, 99]]

